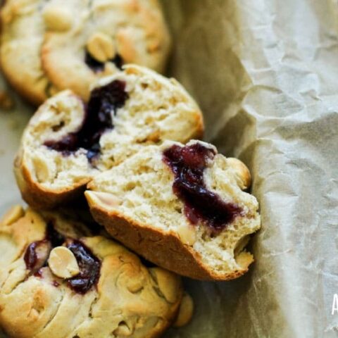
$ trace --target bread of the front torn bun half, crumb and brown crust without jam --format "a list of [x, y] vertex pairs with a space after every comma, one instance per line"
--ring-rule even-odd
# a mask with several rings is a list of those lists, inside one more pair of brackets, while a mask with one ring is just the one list
[[[204, 170], [206, 187], [223, 201], [242, 208], [242, 213], [223, 230], [212, 232], [201, 222], [189, 223], [184, 203], [173, 193], [174, 175], [163, 161], [163, 150], [173, 144], [149, 146], [96, 175], [86, 192], [94, 218], [126, 246], [181, 275], [217, 280], [242, 275], [253, 261], [244, 246], [249, 234], [261, 226], [256, 198], [241, 189], [248, 179], [247, 169], [239, 170], [241, 167], [233, 165], [232, 159], [216, 154]], [[134, 239], [124, 230], [129, 226], [139, 232], [139, 237], [143, 234], [149, 238]]]

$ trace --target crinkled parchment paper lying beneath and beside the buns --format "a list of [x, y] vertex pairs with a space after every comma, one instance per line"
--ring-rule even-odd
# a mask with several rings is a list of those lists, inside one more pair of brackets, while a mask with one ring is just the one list
[[[194, 319], [165, 337], [338, 337], [337, 1], [164, 3], [170, 73], [201, 105], [206, 139], [249, 165], [262, 215], [250, 272], [186, 280]], [[11, 161], [29, 110], [1, 114], [4, 208], [18, 200]]]

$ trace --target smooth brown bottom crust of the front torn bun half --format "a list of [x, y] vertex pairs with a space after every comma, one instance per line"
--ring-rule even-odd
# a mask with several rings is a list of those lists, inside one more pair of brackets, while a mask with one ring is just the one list
[[[192, 246], [183, 244], [175, 233], [164, 233], [146, 224], [136, 223], [117, 211], [108, 211], [85, 193], [90, 211], [97, 223], [104, 225], [112, 237], [127, 248], [166, 269], [196, 280], [233, 280], [249, 269], [250, 259], [242, 270], [215, 273], [201, 261]], [[251, 256], [252, 257], [252, 256]]]

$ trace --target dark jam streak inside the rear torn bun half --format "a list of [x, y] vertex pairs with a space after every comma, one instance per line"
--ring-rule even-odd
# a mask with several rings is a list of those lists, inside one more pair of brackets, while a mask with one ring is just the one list
[[59, 141], [46, 141], [49, 149], [68, 155], [77, 149], [87, 150], [87, 158], [92, 161], [100, 153], [100, 138], [104, 132], [113, 128], [112, 112], [124, 106], [128, 99], [125, 82], [114, 80], [103, 87], [92, 90], [87, 104], [84, 122], [77, 132], [65, 135]]

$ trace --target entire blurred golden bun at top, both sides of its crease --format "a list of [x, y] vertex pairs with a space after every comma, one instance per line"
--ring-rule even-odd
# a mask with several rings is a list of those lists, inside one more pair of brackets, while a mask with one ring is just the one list
[[9, 0], [0, 17], [4, 74], [36, 105], [63, 89], [86, 100], [121, 64], [163, 71], [170, 51], [157, 0]]

